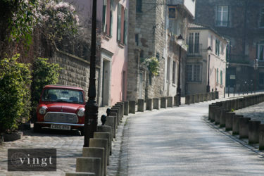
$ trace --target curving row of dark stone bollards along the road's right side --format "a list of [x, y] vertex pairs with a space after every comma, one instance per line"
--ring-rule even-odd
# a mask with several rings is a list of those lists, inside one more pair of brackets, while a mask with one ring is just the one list
[[215, 125], [225, 127], [226, 131], [232, 131], [233, 135], [239, 135], [240, 139], [249, 139], [249, 144], [259, 144], [259, 149], [264, 149], [264, 124], [251, 120], [234, 112], [240, 108], [246, 108], [264, 101], [264, 94], [244, 96], [212, 103], [209, 105], [208, 120]]

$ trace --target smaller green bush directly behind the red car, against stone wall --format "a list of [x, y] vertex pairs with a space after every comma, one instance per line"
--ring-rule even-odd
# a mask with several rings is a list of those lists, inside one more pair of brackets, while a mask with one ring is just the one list
[[32, 107], [36, 107], [39, 102], [42, 88], [47, 84], [56, 84], [58, 82], [59, 72], [62, 69], [60, 65], [48, 63], [48, 58], [35, 58], [32, 68]]

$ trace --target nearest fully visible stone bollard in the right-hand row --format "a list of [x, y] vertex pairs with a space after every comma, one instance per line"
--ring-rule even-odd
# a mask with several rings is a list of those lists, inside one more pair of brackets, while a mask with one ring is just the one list
[[260, 121], [249, 120], [249, 144], [257, 144], [259, 141], [259, 130]]

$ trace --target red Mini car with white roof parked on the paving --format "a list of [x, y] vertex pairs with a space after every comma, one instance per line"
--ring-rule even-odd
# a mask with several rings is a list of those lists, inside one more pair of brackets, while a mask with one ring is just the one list
[[46, 85], [37, 106], [34, 132], [42, 127], [80, 130], [84, 134], [84, 91], [80, 87]]

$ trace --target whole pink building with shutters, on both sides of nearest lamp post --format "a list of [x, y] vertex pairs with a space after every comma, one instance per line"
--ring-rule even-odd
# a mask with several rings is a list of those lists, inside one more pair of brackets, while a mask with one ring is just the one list
[[[82, 22], [92, 21], [92, 0], [67, 1], [77, 7]], [[128, 0], [97, 0], [97, 27], [102, 32], [101, 53], [97, 54], [101, 65], [96, 87], [99, 106], [126, 99], [128, 7]]]

